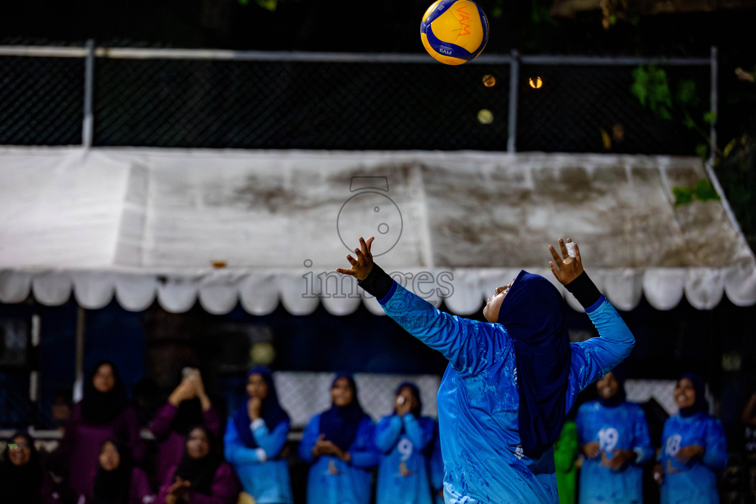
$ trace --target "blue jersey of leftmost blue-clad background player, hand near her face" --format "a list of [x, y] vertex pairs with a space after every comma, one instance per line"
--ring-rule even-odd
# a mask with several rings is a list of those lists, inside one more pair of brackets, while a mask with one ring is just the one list
[[273, 431], [257, 419], [249, 428], [258, 448], [241, 441], [234, 419], [228, 420], [223, 438], [226, 460], [234, 467], [246, 493], [258, 504], [292, 504], [289, 464], [277, 456], [286, 444], [290, 422], [280, 422]]

